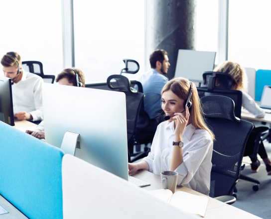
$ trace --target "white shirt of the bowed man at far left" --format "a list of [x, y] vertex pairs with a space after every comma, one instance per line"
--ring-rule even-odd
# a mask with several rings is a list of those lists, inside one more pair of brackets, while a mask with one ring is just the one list
[[21, 80], [11, 86], [14, 115], [18, 111], [26, 111], [32, 115], [33, 121], [43, 120], [43, 80], [38, 75], [24, 70], [21, 74]]

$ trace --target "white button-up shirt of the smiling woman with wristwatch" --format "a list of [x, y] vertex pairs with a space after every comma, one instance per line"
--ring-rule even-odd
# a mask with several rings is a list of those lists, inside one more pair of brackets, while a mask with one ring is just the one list
[[[160, 175], [168, 171], [174, 141], [174, 122], [164, 121], [157, 126], [151, 152], [143, 158], [149, 171]], [[196, 129], [192, 124], [185, 127], [183, 136], [183, 162], [175, 170], [178, 173], [177, 185], [183, 185], [197, 192], [209, 195], [213, 141], [208, 131]]]

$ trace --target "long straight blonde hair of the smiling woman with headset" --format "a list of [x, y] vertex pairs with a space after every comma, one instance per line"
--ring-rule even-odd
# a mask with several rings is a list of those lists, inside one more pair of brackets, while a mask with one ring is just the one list
[[[192, 107], [189, 109], [191, 124], [197, 129], [203, 129], [209, 132], [212, 140], [215, 140], [214, 133], [208, 128], [204, 121], [203, 111], [200, 105], [200, 99], [198, 95], [197, 88], [193, 82], [190, 82], [193, 88], [191, 95]], [[161, 91], [161, 95], [166, 91], [172, 91], [182, 100], [187, 100], [190, 93], [189, 81], [185, 78], [174, 78], [165, 84]]]

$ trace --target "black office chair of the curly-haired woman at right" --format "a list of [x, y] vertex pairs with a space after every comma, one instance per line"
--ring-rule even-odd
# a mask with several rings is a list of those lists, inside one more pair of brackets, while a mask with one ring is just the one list
[[[203, 74], [203, 84], [202, 87], [197, 88], [199, 97], [203, 97], [205, 95], [221, 95], [225, 97], [229, 97], [234, 101], [235, 104], [235, 110], [234, 113], [238, 118], [241, 118], [241, 109], [242, 109], [242, 92], [241, 91], [236, 91], [236, 90], [230, 90], [232, 88], [232, 81], [233, 78], [231, 75], [227, 73], [222, 73], [222, 72], [204, 72]], [[263, 135], [264, 132], [266, 132], [268, 127], [254, 127], [252, 132], [254, 135], [256, 135], [256, 140], [255, 140], [255, 147], [254, 147], [254, 152], [250, 157], [256, 158], [257, 159], [257, 154], [259, 150], [259, 146], [261, 143], [261, 136]], [[242, 166], [241, 170], [245, 168], [245, 164]], [[251, 177], [247, 177], [243, 174], [240, 175], [240, 179], [246, 180], [252, 183], [255, 183], [253, 185], [253, 190], [257, 191], [259, 190], [260, 182], [256, 179], [253, 179]], [[237, 189], [236, 187], [234, 188], [234, 196], [237, 197], [236, 195]]]

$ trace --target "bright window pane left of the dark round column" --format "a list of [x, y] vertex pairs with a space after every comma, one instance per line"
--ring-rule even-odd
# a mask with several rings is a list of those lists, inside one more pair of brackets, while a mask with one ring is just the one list
[[120, 74], [123, 59], [134, 59], [144, 72], [144, 0], [74, 1], [75, 66], [86, 82]]

